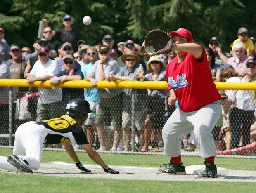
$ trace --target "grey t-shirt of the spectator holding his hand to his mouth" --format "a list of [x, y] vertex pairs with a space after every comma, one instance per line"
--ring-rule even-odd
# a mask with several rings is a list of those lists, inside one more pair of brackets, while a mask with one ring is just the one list
[[[100, 60], [97, 60], [87, 75], [95, 78], [96, 80], [101, 80], [100, 74], [98, 73], [100, 71], [100, 65], [102, 65], [100, 64]], [[110, 73], [117, 74], [120, 71], [119, 65], [112, 58], [109, 58], [107, 63], [103, 65], [103, 69], [105, 76]], [[99, 89], [100, 97], [103, 99], [111, 99], [121, 92], [123, 92], [123, 89]]]

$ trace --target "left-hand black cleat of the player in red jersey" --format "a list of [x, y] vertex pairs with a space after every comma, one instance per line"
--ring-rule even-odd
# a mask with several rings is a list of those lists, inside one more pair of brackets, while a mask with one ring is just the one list
[[186, 174], [186, 169], [185, 169], [185, 165], [181, 164], [177, 164], [177, 163], [173, 163], [170, 160], [170, 163], [168, 164], [163, 164], [160, 167], [164, 167], [163, 169], [159, 169], [157, 171], [157, 174]]

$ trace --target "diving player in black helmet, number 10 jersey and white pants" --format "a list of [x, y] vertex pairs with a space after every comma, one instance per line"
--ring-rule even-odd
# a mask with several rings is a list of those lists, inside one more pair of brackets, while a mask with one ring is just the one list
[[[58, 118], [43, 120], [42, 122], [26, 122], [21, 124], [15, 132], [13, 155], [8, 157], [0, 156], [0, 168], [33, 173], [32, 169], [39, 169], [43, 154], [43, 142], [47, 134], [55, 136], [62, 135], [69, 138], [72, 142], [82, 145], [89, 157], [100, 165], [105, 172], [118, 174], [107, 166], [100, 158], [100, 155], [92, 150], [81, 125], [88, 118], [90, 110], [89, 103], [84, 99], [73, 99], [66, 106], [66, 114]], [[54, 137], [54, 136], [52, 136]], [[55, 141], [55, 140], [52, 140]], [[83, 165], [79, 165], [82, 169]], [[85, 167], [82, 169], [90, 172]]]

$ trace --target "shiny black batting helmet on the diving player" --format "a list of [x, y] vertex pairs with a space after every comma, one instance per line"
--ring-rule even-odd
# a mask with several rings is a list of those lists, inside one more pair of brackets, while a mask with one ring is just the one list
[[90, 104], [85, 99], [72, 99], [66, 105], [66, 114], [71, 117], [86, 120], [88, 113], [95, 113], [90, 109]]

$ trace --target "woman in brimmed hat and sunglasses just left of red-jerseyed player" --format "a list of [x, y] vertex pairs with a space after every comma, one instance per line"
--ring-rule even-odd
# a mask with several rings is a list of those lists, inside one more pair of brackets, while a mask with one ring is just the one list
[[[144, 80], [166, 80], [166, 70], [159, 56], [150, 57], [147, 63], [147, 69], [149, 73], [145, 75]], [[148, 89], [148, 115], [145, 120], [144, 144], [140, 150], [141, 152], [148, 151], [152, 129], [154, 131], [154, 144], [152, 144], [152, 146], [158, 146], [159, 142], [163, 141], [161, 137], [161, 129], [164, 126], [165, 101], [167, 99], [167, 94], [167, 89]]]

